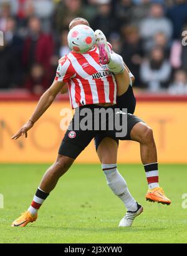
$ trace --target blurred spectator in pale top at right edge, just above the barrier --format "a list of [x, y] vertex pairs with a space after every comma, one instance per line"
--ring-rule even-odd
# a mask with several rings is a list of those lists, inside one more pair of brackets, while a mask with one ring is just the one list
[[168, 88], [171, 95], [187, 95], [187, 74], [183, 69], [175, 71], [174, 80]]

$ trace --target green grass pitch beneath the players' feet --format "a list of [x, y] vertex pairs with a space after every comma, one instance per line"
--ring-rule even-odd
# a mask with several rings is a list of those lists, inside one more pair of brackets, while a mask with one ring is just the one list
[[39, 211], [37, 222], [12, 228], [11, 222], [29, 207], [49, 165], [0, 165], [0, 243], [186, 243], [187, 165], [160, 165], [160, 185], [170, 206], [145, 201], [141, 165], [118, 165], [130, 192], [144, 207], [133, 227], [118, 228], [125, 214], [122, 202], [107, 187], [100, 165], [73, 165]]

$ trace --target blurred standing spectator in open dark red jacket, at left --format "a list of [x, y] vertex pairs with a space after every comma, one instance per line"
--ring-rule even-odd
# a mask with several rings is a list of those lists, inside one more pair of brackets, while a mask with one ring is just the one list
[[54, 42], [50, 34], [41, 31], [41, 22], [33, 17], [29, 20], [29, 34], [24, 40], [23, 64], [26, 71], [34, 63], [40, 63], [47, 74], [50, 74], [50, 59], [54, 53]]

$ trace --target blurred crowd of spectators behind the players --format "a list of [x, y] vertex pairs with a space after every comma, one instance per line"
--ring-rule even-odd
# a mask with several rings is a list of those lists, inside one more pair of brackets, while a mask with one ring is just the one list
[[0, 0], [0, 90], [41, 95], [69, 53], [68, 26], [77, 16], [105, 33], [137, 90], [187, 94], [186, 0]]

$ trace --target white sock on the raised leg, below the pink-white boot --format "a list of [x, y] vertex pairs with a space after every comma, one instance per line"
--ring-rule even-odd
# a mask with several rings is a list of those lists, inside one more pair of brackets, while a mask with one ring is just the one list
[[125, 69], [122, 56], [117, 53], [110, 53], [110, 62], [107, 64], [108, 69], [115, 74], [120, 74]]

